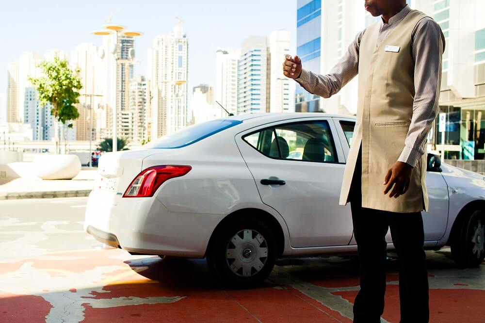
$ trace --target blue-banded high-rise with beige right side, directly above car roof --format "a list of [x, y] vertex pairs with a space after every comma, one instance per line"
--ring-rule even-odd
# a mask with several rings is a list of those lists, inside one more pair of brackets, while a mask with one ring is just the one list
[[238, 114], [269, 112], [268, 72], [266, 37], [243, 40], [238, 61]]

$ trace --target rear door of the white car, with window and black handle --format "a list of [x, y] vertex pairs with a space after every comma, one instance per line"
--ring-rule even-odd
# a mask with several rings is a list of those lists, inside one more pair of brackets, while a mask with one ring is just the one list
[[339, 206], [344, 155], [330, 118], [302, 118], [242, 132], [236, 142], [263, 203], [278, 211], [293, 247], [347, 245], [350, 205]]

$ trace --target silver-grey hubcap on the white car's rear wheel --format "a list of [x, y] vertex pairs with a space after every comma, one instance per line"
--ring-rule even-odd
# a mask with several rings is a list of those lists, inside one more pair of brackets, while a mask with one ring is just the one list
[[227, 266], [238, 276], [256, 275], [264, 267], [267, 257], [266, 240], [256, 230], [239, 231], [226, 246]]

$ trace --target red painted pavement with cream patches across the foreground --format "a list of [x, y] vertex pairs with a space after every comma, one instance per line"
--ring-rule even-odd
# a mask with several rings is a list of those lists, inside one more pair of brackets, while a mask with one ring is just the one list
[[[203, 260], [161, 261], [121, 250], [50, 256], [0, 265], [0, 322], [44, 322], [49, 313], [53, 320], [54, 307], [59, 309], [66, 298], [78, 302], [67, 317], [74, 322], [76, 311], [83, 322], [351, 322], [345, 313], [322, 304], [323, 298], [302, 289], [298, 279], [309, 283], [311, 291], [335, 297], [350, 313], [358, 291], [357, 275], [338, 270], [328, 277], [313, 272], [311, 279], [303, 275], [292, 280], [289, 274], [284, 284], [276, 284], [272, 275], [259, 288], [227, 290], [210, 276]], [[34, 280], [27, 283], [26, 277]], [[388, 275], [383, 318], [389, 322], [399, 322], [397, 279], [395, 273]], [[451, 285], [454, 289], [430, 290], [431, 322], [485, 322], [485, 291], [465, 288], [469, 284], [459, 279]], [[149, 300], [156, 304], [130, 303]]]

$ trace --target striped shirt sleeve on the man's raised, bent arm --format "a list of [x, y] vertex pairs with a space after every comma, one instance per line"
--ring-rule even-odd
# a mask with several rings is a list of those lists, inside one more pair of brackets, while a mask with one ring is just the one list
[[347, 52], [328, 74], [320, 75], [302, 69], [298, 79], [295, 79], [305, 90], [321, 97], [331, 97], [352, 80], [359, 70], [359, 47], [364, 31], [356, 35]]

